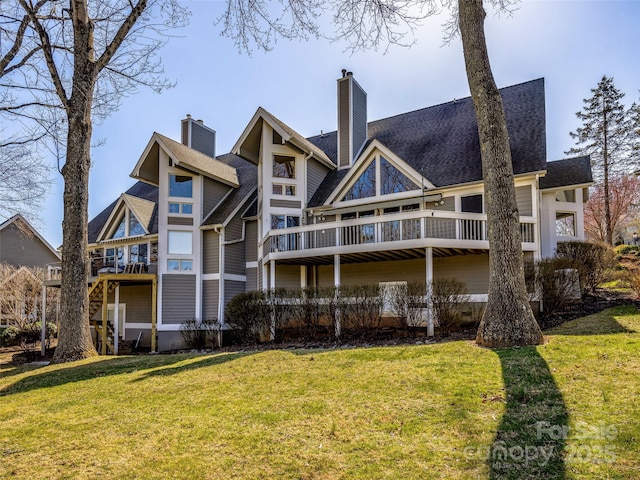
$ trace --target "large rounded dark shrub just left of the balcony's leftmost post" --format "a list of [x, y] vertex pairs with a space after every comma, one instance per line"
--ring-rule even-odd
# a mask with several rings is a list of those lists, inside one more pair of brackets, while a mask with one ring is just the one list
[[240, 293], [225, 307], [226, 322], [243, 343], [259, 343], [269, 335], [271, 307], [264, 292]]

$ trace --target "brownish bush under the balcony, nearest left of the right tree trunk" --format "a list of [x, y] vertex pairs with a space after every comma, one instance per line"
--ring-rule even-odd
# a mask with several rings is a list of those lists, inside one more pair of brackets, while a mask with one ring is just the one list
[[435, 280], [431, 284], [431, 302], [436, 326], [443, 335], [450, 335], [451, 330], [462, 320], [462, 310], [469, 303], [467, 285], [455, 278]]

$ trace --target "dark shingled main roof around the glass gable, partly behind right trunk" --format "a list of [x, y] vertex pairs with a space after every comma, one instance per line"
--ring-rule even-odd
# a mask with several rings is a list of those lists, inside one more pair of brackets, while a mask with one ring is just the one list
[[[514, 174], [546, 168], [544, 79], [500, 90]], [[436, 187], [482, 180], [480, 142], [470, 97], [370, 122], [369, 142], [379, 140]], [[336, 162], [337, 132], [309, 138]], [[322, 205], [348, 170], [329, 172], [310, 207]]]

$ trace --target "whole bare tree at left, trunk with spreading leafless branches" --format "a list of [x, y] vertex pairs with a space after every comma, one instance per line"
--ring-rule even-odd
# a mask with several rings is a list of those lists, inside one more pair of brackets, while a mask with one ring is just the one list
[[[167, 29], [184, 25], [178, 0], [12, 0], [0, 3], [13, 56], [2, 81], [5, 113], [54, 140], [64, 179], [59, 343], [54, 361], [95, 355], [88, 318], [88, 185], [94, 119], [146, 86], [170, 86], [155, 56]], [[43, 114], [43, 112], [45, 112]]]

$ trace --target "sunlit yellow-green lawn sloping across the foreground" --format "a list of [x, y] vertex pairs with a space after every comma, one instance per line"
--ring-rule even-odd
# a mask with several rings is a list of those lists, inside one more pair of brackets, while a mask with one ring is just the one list
[[0, 478], [639, 478], [638, 332], [3, 365]]

